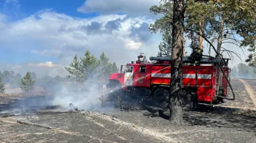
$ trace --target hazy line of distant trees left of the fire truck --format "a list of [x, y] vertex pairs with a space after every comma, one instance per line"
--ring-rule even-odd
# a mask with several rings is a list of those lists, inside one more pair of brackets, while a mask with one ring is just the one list
[[41, 86], [48, 91], [54, 91], [60, 87], [62, 82], [72, 82], [71, 88], [82, 86], [83, 83], [91, 79], [91, 82], [99, 86], [107, 83], [110, 74], [118, 72], [115, 61], [112, 63], [102, 52], [99, 58], [95, 57], [90, 51], [86, 51], [84, 57], [74, 56], [69, 67], [65, 67], [69, 75], [60, 77], [59, 75], [51, 77], [49, 75], [37, 77], [35, 72], [27, 72], [25, 75], [13, 71], [0, 71], [0, 90], [4, 91], [5, 85], [9, 84], [10, 89], [22, 88], [24, 91], [31, 91], [34, 86]]

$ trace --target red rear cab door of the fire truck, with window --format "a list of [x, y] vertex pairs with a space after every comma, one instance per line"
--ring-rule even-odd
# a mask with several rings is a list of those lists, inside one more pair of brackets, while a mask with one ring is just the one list
[[[138, 68], [137, 68], [138, 67]], [[138, 65], [133, 72], [133, 86], [148, 88], [150, 86], [150, 66]]]

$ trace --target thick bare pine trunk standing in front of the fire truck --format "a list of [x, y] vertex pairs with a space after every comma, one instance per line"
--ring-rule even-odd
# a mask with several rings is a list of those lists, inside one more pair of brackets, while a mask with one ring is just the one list
[[174, 1], [171, 54], [170, 120], [174, 124], [183, 124], [181, 102], [181, 68], [184, 42], [184, 0]]

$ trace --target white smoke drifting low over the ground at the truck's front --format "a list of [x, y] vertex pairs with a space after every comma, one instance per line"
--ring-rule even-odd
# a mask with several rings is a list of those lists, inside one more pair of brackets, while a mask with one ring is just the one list
[[[100, 71], [100, 68], [99, 66], [96, 71]], [[92, 73], [77, 91], [74, 88], [59, 88], [54, 94], [51, 104], [69, 108], [69, 104], [72, 103], [74, 106], [83, 110], [101, 110], [102, 100], [104, 106], [112, 105], [111, 102], [107, 102], [109, 91], [104, 89], [103, 83], [97, 80], [96, 77], [98, 76], [99, 72]], [[105, 77], [105, 80], [107, 78]]]

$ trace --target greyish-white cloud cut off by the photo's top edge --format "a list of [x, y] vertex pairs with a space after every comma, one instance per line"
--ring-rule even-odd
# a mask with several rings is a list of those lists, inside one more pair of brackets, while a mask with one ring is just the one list
[[87, 0], [84, 5], [77, 9], [78, 12], [98, 12], [101, 15], [113, 13], [128, 13], [130, 16], [153, 16], [149, 12], [152, 5], [158, 5], [159, 0]]

